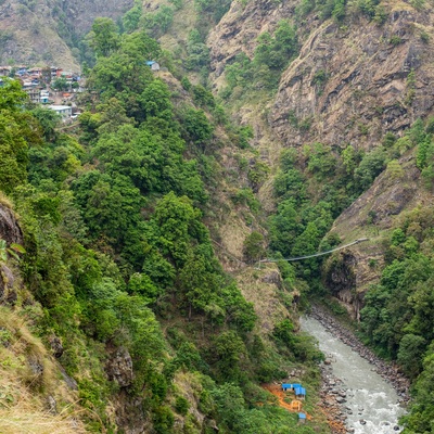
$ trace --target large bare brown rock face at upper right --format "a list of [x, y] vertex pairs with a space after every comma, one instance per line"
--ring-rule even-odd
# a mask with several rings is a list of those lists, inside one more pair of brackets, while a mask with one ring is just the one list
[[311, 30], [282, 76], [272, 110], [272, 127], [286, 145], [321, 141], [370, 149], [386, 131], [399, 136], [432, 113], [434, 72], [421, 33], [434, 13], [406, 3], [396, 8], [382, 26], [360, 17]]

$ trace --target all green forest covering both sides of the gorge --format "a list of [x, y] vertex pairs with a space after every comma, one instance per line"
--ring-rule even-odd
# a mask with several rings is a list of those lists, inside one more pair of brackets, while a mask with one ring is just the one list
[[[390, 186], [407, 182], [412, 165], [421, 195], [431, 197], [434, 120], [418, 117], [369, 149], [305, 140], [282, 146], [276, 166], [261, 158], [253, 126], [237, 111], [276, 95], [301, 53], [304, 24], [315, 16], [342, 29], [357, 17], [381, 27], [390, 13], [382, 1], [296, 3], [289, 18], [256, 38], [251, 55], [240, 51], [228, 62], [218, 91], [207, 36], [231, 2], [215, 0], [194, 1], [194, 26], [173, 51], [159, 40], [182, 13], [182, 0], [153, 12], [136, 1], [116, 23], [97, 18], [80, 40], [61, 22], [86, 75], [82, 113], [72, 126], [31, 104], [17, 80], [2, 80], [0, 206], [13, 209], [23, 231], [22, 243], [0, 240], [2, 279], [16, 276], [14, 295], [0, 294], [2, 369], [15, 372], [38, 359], [36, 344], [20, 356], [11, 349], [22, 340], [13, 323], [23, 321], [75, 383], [77, 401], [58, 398], [58, 406], [67, 417], [80, 414], [82, 432], [128, 433], [135, 423], [158, 434], [329, 432], [324, 418], [298, 425], [259, 385], [302, 372], [307, 411], [320, 412], [324, 356], [299, 332], [298, 315], [312, 299], [328, 301], [336, 315], [345, 310], [333, 301], [330, 278], [345, 267], [339, 255], [294, 265], [279, 259], [340, 245], [333, 224], [381, 176]], [[403, 43], [393, 38], [385, 43]], [[427, 43], [429, 35], [421, 40]], [[153, 73], [150, 60], [165, 71]], [[312, 75], [318, 98], [329, 80], [323, 68]], [[405, 107], [416, 99], [416, 80], [410, 68]], [[307, 138], [315, 124], [293, 108], [286, 120]], [[357, 128], [368, 137], [368, 125]], [[261, 203], [266, 188], [271, 207]], [[247, 228], [235, 260], [252, 279], [263, 276], [254, 270], [258, 259], [278, 260], [276, 291], [285, 314], [268, 331], [217, 248], [221, 215], [231, 213]], [[369, 212], [367, 230], [378, 232], [379, 218]], [[432, 205], [420, 204], [382, 232], [384, 255], [369, 263], [379, 279], [359, 318], [363, 342], [412, 382], [406, 434], [434, 432], [433, 221]], [[26, 387], [54, 394], [55, 374], [41, 372]], [[17, 401], [2, 384], [0, 407]]]

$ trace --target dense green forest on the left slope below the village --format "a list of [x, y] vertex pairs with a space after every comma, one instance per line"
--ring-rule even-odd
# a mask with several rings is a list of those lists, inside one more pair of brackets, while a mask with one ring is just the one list
[[[119, 393], [152, 432], [176, 432], [175, 414], [187, 418], [184, 432], [202, 432], [175, 385], [186, 373], [197, 384], [205, 432], [213, 421], [224, 433], [288, 432], [295, 414], [270, 406], [255, 383], [321, 355], [289, 319], [260, 337], [252, 304], [214, 255], [202, 218], [221, 107], [188, 80], [196, 105], [176, 100], [145, 64], [162, 55], [145, 31], [119, 35], [98, 20], [89, 38], [97, 61], [73, 135], [17, 82], [0, 88], [0, 189], [22, 216], [31, 299], [24, 315], [42, 339], [63, 342], [59, 360], [91, 410], [92, 432], [116, 430], [107, 406]], [[246, 145], [248, 129], [229, 125], [228, 133]], [[253, 186], [264, 171], [257, 162]], [[252, 192], [245, 197], [255, 206]], [[248, 255], [257, 244], [253, 238]], [[106, 368], [116, 348], [131, 357], [127, 380]], [[309, 374], [318, 382], [315, 369]]]

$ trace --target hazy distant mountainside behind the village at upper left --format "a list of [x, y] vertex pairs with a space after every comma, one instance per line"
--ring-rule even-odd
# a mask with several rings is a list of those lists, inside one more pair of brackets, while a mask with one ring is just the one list
[[64, 40], [67, 34], [80, 37], [97, 16], [117, 20], [132, 4], [133, 0], [0, 2], [0, 64], [54, 64], [77, 72], [77, 60]]

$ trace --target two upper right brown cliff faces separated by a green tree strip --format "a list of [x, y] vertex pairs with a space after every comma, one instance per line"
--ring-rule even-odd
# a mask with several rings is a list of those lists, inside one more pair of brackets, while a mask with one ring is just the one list
[[[256, 0], [231, 10], [210, 33], [212, 78], [240, 52], [253, 58], [257, 37], [293, 20], [297, 1]], [[434, 107], [430, 62], [434, 10], [403, 1], [385, 4], [382, 25], [362, 16], [344, 24], [309, 15], [298, 26], [299, 56], [282, 74], [270, 124], [284, 145], [321, 141], [368, 149], [386, 131], [400, 133]], [[410, 75], [411, 74], [411, 75]], [[307, 128], [292, 125], [290, 117]]]

